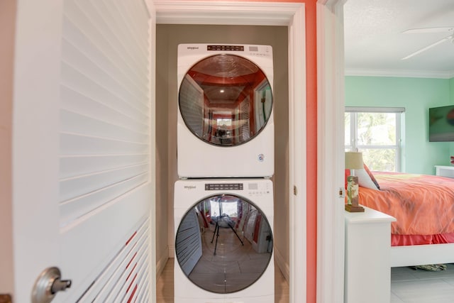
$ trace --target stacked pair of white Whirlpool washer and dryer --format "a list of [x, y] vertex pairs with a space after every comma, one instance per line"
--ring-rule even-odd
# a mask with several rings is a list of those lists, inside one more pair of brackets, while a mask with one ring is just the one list
[[175, 302], [274, 302], [269, 45], [181, 44]]

